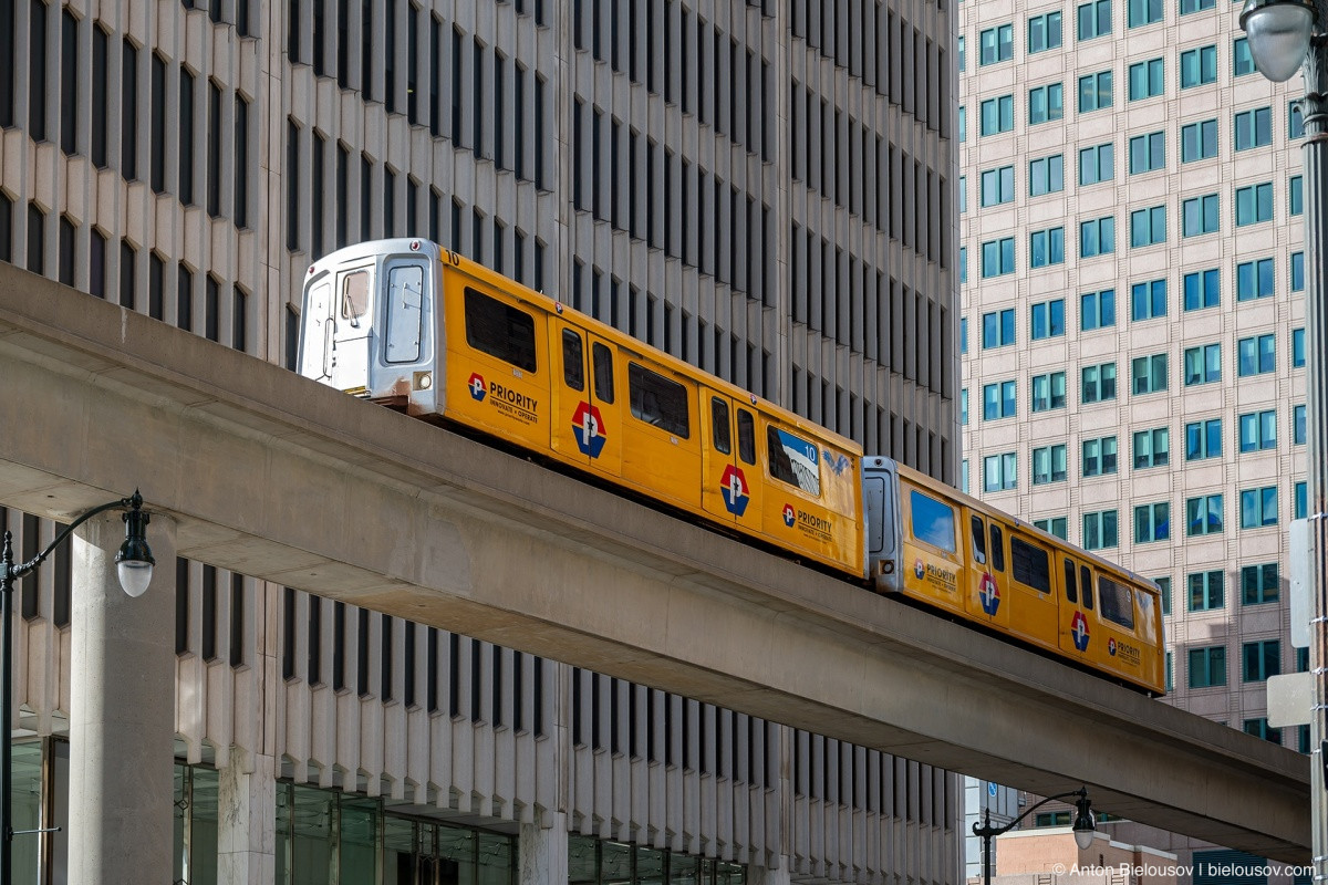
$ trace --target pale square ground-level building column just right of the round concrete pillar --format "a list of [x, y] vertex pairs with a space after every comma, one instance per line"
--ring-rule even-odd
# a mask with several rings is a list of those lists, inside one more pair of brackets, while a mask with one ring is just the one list
[[232, 752], [216, 795], [218, 885], [276, 881], [276, 770], [272, 756]]

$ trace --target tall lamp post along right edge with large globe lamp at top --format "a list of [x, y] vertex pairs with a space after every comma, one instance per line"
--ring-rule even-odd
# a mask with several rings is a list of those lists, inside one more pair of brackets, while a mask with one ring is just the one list
[[1309, 455], [1308, 511], [1316, 561], [1309, 667], [1315, 701], [1309, 711], [1311, 823], [1315, 881], [1328, 876], [1328, 0], [1246, 0], [1240, 27], [1250, 41], [1255, 68], [1272, 82], [1284, 82], [1296, 70], [1305, 80], [1303, 103], [1305, 145], [1305, 374]]

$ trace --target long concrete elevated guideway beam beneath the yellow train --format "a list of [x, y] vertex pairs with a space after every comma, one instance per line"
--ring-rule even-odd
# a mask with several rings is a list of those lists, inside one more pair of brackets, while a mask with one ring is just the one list
[[3, 263], [0, 378], [0, 504], [1308, 861], [1307, 756]]

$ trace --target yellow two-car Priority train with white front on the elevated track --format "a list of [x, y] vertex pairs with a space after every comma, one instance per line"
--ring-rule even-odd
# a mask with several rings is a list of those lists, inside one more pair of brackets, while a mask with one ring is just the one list
[[309, 268], [299, 370], [1165, 689], [1151, 581], [428, 240]]

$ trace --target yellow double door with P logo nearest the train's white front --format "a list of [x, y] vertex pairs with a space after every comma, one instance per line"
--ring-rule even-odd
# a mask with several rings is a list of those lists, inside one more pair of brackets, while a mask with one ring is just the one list
[[582, 467], [616, 476], [622, 468], [614, 350], [595, 334], [558, 320], [554, 332], [554, 422], [550, 447]]

